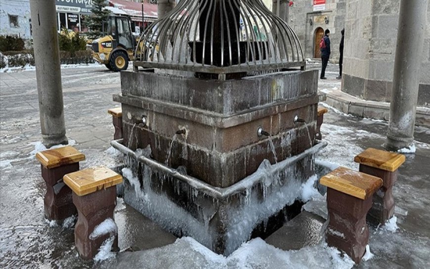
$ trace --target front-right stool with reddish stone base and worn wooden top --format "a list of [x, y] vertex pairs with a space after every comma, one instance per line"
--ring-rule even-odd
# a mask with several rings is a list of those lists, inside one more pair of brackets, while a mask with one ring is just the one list
[[373, 193], [382, 186], [380, 178], [339, 167], [320, 179], [327, 186], [329, 224], [326, 242], [343, 250], [360, 263], [369, 240], [366, 215]]

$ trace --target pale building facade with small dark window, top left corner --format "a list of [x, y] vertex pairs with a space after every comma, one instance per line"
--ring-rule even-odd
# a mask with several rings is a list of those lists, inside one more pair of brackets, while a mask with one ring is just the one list
[[0, 1], [0, 35], [31, 38], [29, 0]]

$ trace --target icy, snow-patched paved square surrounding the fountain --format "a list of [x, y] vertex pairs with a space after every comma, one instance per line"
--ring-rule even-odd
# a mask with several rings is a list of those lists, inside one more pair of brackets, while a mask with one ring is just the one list
[[[308, 69], [319, 67], [319, 64], [308, 65]], [[61, 73], [66, 136], [70, 144], [86, 155], [86, 161], [82, 162], [81, 167], [115, 166], [121, 159], [108, 150], [114, 128], [107, 110], [119, 106], [112, 101], [112, 94], [121, 92], [120, 73], [108, 71], [104, 66], [64, 68]], [[329, 65], [326, 75], [328, 79], [319, 81], [319, 90], [340, 87], [340, 80], [335, 79], [337, 76], [338, 67]], [[93, 267], [92, 261], [84, 262], [78, 257], [74, 247], [73, 228], [55, 226], [47, 223], [43, 217], [45, 187], [40, 164], [34, 157], [38, 150], [43, 149], [36, 72], [1, 73], [0, 104], [0, 267]], [[353, 162], [356, 154], [368, 147], [381, 148], [386, 137], [387, 122], [343, 115], [329, 108], [321, 131], [323, 140], [329, 145], [317, 158], [356, 169], [358, 165]], [[417, 152], [407, 155], [394, 186], [395, 215], [399, 230], [392, 232], [372, 227], [369, 244], [375, 257], [362, 262], [359, 268], [429, 267], [429, 138], [428, 128], [416, 127]], [[152, 259], [151, 263], [140, 265], [128, 264], [120, 255], [119, 263], [122, 266], [154, 268], [151, 265], [160, 263], [165, 267], [159, 268], [203, 268], [203, 265], [222, 268], [225, 260], [218, 263], [219, 259], [212, 260], [212, 256], [204, 254], [199, 254], [203, 257], [199, 256], [199, 259], [206, 263], [199, 265], [198, 260], [194, 264], [193, 259], [185, 259], [185, 264], [181, 265], [183, 267], [175, 266], [175, 259], [181, 255], [196, 255], [198, 251], [192, 244], [184, 244], [183, 241], [172, 244], [176, 240], [172, 234], [161, 230], [119, 201], [115, 219], [119, 226], [119, 246], [122, 251], [130, 247], [133, 251], [138, 251], [166, 245], [166, 251], [170, 251], [163, 252], [161, 248], [136, 252], [140, 255], [140, 261]], [[327, 259], [330, 262], [329, 257]], [[274, 268], [271, 266], [280, 260], [282, 261], [273, 254], [270, 263], [250, 259], [247, 265], [249, 268]], [[318, 265], [318, 260], [309, 263], [310, 266], [321, 268], [331, 266], [323, 262]], [[226, 264], [228, 268], [239, 265], [231, 260]], [[110, 267], [109, 264], [105, 266]]]

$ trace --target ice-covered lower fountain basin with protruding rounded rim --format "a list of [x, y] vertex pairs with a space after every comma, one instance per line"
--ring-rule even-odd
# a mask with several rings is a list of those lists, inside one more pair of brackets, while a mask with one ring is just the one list
[[[227, 187], [213, 187], [151, 158], [149, 151], [131, 151], [122, 140], [112, 146], [124, 154], [124, 199], [133, 208], [178, 236], [192, 236], [214, 252], [229, 255], [252, 237], [276, 230], [301, 200], [303, 183], [316, 181], [310, 149], [258, 170]], [[310, 184], [312, 185], [312, 184]]]

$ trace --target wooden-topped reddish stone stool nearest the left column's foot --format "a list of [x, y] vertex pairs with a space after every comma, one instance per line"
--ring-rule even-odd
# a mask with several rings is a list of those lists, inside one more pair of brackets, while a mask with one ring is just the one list
[[79, 170], [79, 162], [85, 155], [71, 146], [38, 152], [42, 177], [46, 183], [43, 198], [44, 214], [48, 220], [64, 220], [76, 213], [72, 191], [63, 183], [65, 174]]

